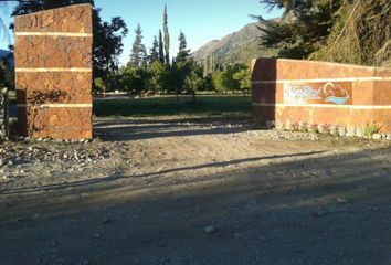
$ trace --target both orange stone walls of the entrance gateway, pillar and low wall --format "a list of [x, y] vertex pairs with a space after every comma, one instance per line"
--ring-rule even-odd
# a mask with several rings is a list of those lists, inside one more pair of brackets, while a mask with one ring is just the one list
[[[18, 130], [30, 138], [91, 139], [93, 8], [75, 4], [15, 17]], [[263, 123], [391, 132], [391, 71], [257, 59], [253, 117]]]

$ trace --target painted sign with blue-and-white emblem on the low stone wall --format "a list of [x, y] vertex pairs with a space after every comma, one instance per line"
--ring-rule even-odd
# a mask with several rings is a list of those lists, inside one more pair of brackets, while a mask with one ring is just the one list
[[285, 83], [284, 103], [351, 105], [350, 82]]

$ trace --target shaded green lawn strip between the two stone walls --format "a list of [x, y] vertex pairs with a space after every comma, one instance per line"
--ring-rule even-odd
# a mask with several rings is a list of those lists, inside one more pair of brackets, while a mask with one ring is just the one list
[[250, 116], [251, 98], [243, 96], [198, 96], [193, 103], [191, 96], [176, 97], [95, 99], [96, 116]]

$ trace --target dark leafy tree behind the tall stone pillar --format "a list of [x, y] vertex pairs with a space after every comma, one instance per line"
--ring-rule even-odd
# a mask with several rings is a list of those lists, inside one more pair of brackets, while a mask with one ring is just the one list
[[[118, 56], [123, 52], [123, 40], [128, 33], [125, 21], [120, 17], [112, 18], [109, 22], [101, 18], [101, 9], [94, 6], [94, 0], [40, 0], [18, 1], [12, 15], [29, 14], [46, 9], [61, 8], [75, 3], [91, 3], [93, 9], [93, 67], [94, 78], [108, 76], [118, 71]], [[11, 25], [13, 28], [13, 25]]]

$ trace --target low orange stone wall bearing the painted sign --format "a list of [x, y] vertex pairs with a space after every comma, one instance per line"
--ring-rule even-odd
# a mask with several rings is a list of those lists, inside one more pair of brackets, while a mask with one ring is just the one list
[[376, 125], [391, 132], [391, 70], [327, 62], [252, 62], [254, 120], [362, 135]]

